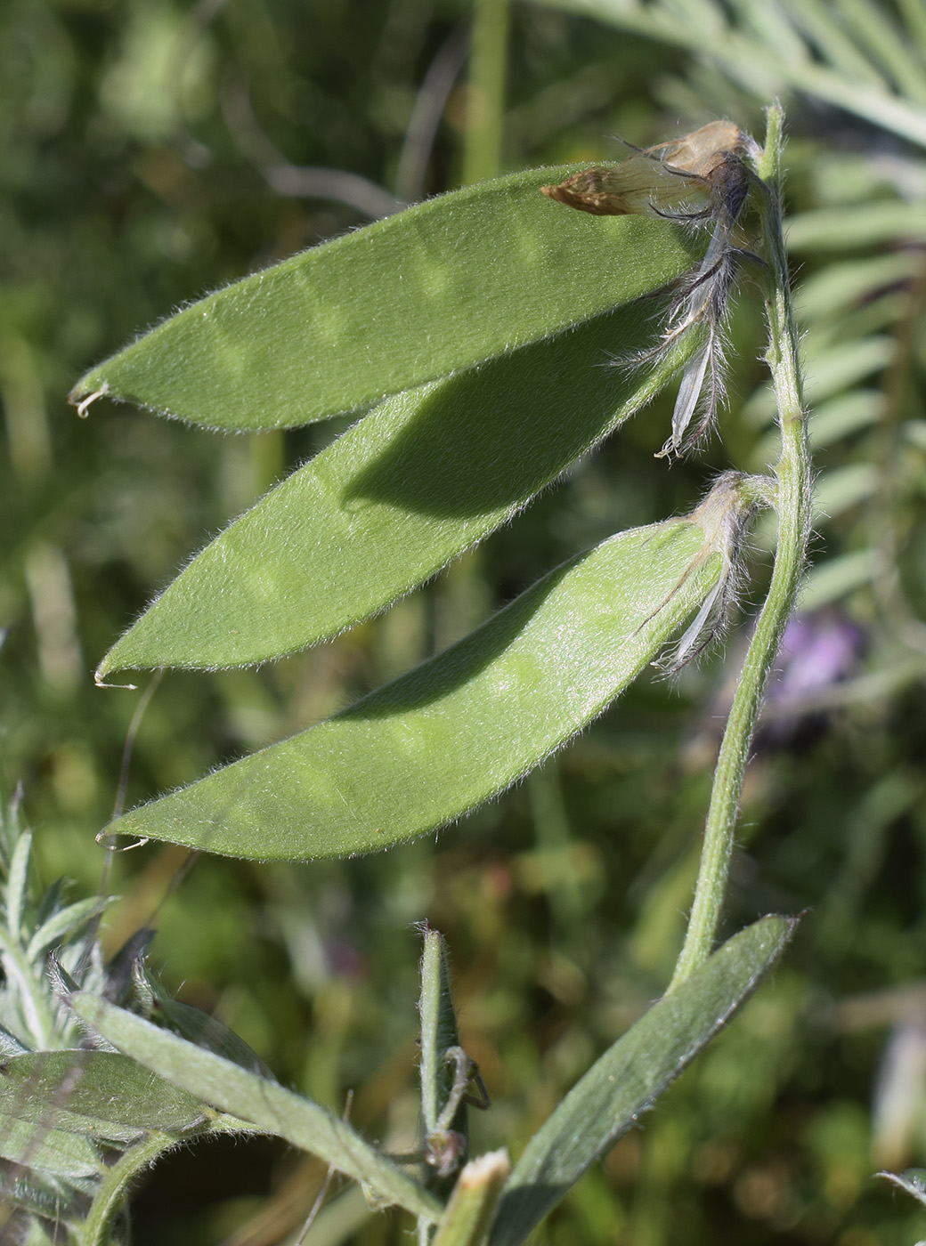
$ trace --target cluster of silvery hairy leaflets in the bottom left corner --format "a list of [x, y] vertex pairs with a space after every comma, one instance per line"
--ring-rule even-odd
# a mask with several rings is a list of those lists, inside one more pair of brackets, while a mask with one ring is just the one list
[[[97, 938], [105, 905], [40, 892], [32, 834], [19, 801], [0, 807], [0, 1241], [108, 1246], [127, 1240], [127, 1195], [172, 1148], [209, 1134], [253, 1133], [152, 1075], [86, 1027], [62, 998], [76, 974], [92, 998], [126, 1002], [143, 941], [106, 962]], [[50, 954], [51, 963], [50, 963]], [[148, 988], [148, 1001], [152, 987]], [[165, 1001], [171, 1020], [196, 1009]], [[202, 1014], [199, 1014], [202, 1018]], [[241, 1040], [212, 1042], [243, 1058]], [[253, 1053], [248, 1053], [259, 1064]], [[244, 1057], [247, 1058], [247, 1057]]]

